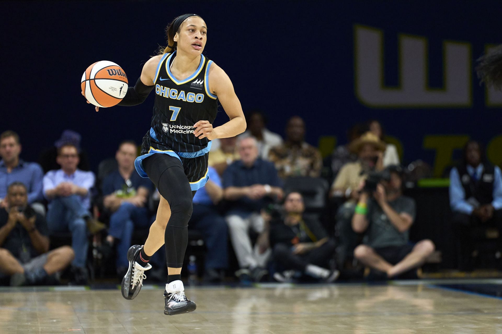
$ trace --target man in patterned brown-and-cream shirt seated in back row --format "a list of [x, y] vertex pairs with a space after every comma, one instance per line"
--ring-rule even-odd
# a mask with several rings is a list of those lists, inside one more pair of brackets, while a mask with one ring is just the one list
[[286, 142], [270, 149], [269, 160], [275, 164], [279, 177], [283, 179], [291, 176], [321, 175], [321, 153], [305, 142], [305, 123], [298, 116], [289, 119], [286, 125]]

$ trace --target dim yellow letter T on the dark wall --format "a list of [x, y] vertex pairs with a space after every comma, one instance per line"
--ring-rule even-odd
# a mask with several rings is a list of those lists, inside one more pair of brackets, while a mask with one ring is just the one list
[[454, 150], [462, 149], [469, 140], [467, 135], [428, 135], [424, 137], [424, 148], [436, 150], [434, 177], [443, 176], [444, 169], [451, 163]]

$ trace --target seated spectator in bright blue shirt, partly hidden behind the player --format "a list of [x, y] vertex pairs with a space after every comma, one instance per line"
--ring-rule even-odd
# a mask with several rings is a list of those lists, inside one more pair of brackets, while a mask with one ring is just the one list
[[216, 283], [223, 279], [224, 270], [228, 266], [228, 227], [216, 210], [216, 204], [223, 198], [220, 177], [213, 167], [209, 167], [208, 175], [206, 185], [197, 190], [193, 197], [193, 212], [188, 228], [202, 234], [207, 248], [204, 280]]

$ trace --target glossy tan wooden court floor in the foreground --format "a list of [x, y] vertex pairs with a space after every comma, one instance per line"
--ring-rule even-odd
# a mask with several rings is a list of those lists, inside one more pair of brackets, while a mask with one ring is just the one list
[[164, 315], [158, 286], [145, 286], [132, 301], [118, 289], [2, 288], [0, 333], [502, 333], [501, 284], [197, 287], [186, 289], [197, 309], [175, 316]]

